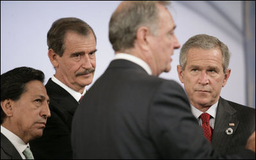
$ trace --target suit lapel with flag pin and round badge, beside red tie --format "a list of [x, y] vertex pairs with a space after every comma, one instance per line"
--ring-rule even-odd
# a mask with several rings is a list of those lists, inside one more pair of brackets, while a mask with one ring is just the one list
[[[212, 133], [212, 145], [216, 149], [221, 148], [221, 152], [226, 152], [230, 141], [236, 133], [239, 125], [236, 112], [225, 99], [220, 97]], [[226, 130], [228, 131], [226, 132]]]

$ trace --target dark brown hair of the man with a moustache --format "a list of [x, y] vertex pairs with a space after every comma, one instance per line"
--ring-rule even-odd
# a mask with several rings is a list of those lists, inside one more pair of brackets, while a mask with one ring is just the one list
[[52, 24], [51, 29], [47, 33], [48, 50], [54, 50], [61, 57], [65, 50], [64, 42], [67, 31], [74, 31], [83, 36], [88, 36], [92, 32], [96, 41], [92, 27], [83, 20], [74, 17], [60, 18]]

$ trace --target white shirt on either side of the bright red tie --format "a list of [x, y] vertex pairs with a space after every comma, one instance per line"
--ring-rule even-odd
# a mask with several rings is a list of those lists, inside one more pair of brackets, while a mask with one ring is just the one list
[[[191, 105], [191, 104], [190, 104]], [[211, 115], [211, 118], [209, 120], [209, 124], [212, 127], [212, 129], [214, 129], [214, 122], [215, 122], [215, 118], [216, 118], [216, 113], [217, 113], [217, 106], [218, 106], [218, 101], [216, 103], [214, 103], [205, 113], [208, 113], [209, 115]], [[200, 115], [204, 112], [201, 112], [200, 110], [198, 110], [197, 108], [195, 108], [195, 106], [191, 105], [191, 112], [193, 113], [193, 115], [196, 117], [196, 119], [198, 120], [198, 124], [200, 126], [202, 126], [202, 119], [200, 119]]]

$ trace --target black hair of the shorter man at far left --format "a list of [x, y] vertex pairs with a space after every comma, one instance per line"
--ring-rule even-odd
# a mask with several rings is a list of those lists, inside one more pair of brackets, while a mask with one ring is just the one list
[[[17, 101], [26, 92], [26, 84], [32, 80], [39, 80], [44, 83], [44, 73], [40, 70], [20, 67], [15, 68], [1, 75], [1, 101], [12, 99]], [[6, 117], [1, 107], [1, 124]]]

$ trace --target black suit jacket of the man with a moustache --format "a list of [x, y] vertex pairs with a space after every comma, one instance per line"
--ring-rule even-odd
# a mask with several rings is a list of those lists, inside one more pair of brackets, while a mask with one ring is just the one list
[[71, 122], [78, 103], [51, 78], [45, 88], [50, 98], [51, 117], [47, 119], [43, 136], [29, 145], [35, 159], [72, 159]]

